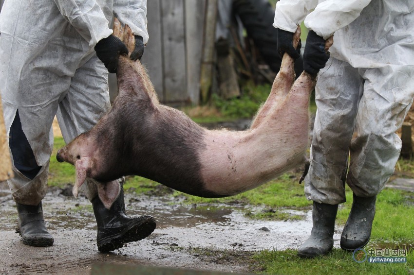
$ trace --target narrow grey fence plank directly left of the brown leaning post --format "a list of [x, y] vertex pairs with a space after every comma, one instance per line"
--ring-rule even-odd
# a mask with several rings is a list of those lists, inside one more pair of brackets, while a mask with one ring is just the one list
[[185, 0], [187, 95], [191, 104], [200, 101], [200, 70], [207, 0]]

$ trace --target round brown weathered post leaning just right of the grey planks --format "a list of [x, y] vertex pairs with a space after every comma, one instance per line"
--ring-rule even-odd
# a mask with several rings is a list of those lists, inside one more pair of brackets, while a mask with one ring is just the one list
[[204, 22], [204, 48], [200, 73], [202, 103], [207, 103], [211, 87], [217, 21], [217, 1], [218, 0], [207, 0], [206, 18]]

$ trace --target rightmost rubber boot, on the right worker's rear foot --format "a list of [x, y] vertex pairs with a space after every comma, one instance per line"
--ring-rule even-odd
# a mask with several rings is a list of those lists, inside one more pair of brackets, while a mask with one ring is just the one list
[[376, 196], [362, 198], [354, 194], [351, 213], [340, 237], [340, 247], [343, 250], [354, 251], [368, 243], [375, 216], [375, 202]]

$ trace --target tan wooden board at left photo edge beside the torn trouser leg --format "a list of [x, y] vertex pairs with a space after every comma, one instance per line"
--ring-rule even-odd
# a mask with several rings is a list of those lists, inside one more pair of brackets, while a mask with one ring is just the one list
[[13, 175], [12, 162], [10, 159], [6, 127], [4, 126], [3, 108], [0, 97], [0, 181], [6, 180]]

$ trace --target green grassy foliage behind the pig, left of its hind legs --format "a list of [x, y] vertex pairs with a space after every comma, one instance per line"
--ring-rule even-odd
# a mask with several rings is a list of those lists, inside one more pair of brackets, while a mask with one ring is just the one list
[[212, 95], [212, 103], [224, 117], [251, 118], [256, 114], [260, 105], [266, 101], [270, 85], [252, 86], [246, 85], [240, 98], [230, 100], [221, 99], [217, 94]]

